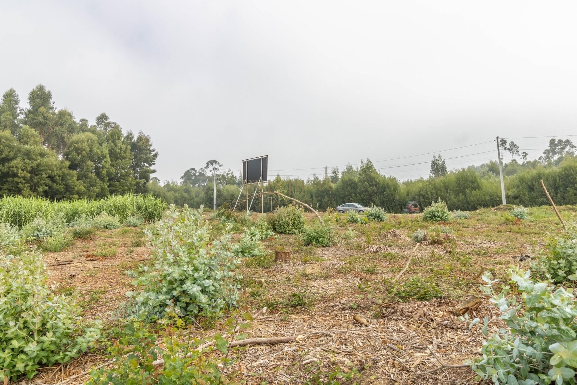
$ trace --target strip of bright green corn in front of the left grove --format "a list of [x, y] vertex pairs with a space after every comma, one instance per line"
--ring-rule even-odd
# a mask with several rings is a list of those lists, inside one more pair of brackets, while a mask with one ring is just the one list
[[105, 199], [73, 201], [51, 201], [44, 198], [24, 198], [7, 196], [0, 199], [0, 222], [11, 223], [18, 227], [28, 225], [36, 217], [50, 219], [63, 215], [66, 222], [79, 216], [93, 218], [105, 212], [125, 220], [129, 216], [139, 216], [151, 222], [160, 219], [167, 204], [151, 195], [115, 195]]

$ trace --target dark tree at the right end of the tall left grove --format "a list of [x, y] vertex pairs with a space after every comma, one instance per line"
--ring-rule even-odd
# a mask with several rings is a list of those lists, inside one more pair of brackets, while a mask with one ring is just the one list
[[142, 131], [138, 132], [136, 139], [133, 139], [133, 134], [130, 131], [126, 136], [131, 141], [132, 173], [136, 180], [136, 192], [145, 193], [150, 175], [156, 173], [152, 166], [156, 164], [158, 151], [152, 147], [150, 136], [145, 135]]

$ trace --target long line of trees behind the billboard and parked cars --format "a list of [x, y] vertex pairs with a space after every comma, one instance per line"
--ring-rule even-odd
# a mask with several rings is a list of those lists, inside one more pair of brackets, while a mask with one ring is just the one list
[[[542, 179], [557, 204], [577, 204], [577, 158], [575, 145], [570, 140], [551, 139], [544, 155], [535, 160], [526, 160], [525, 154], [516, 151], [519, 147], [513, 142], [500, 145], [503, 151], [512, 151], [511, 160], [504, 162], [503, 166], [508, 203], [526, 206], [548, 204], [539, 182]], [[516, 156], [520, 159], [515, 159]], [[208, 166], [207, 162], [205, 167], [186, 170], [180, 182], [161, 185], [159, 180], [153, 178], [149, 191], [168, 203], [212, 207], [212, 178], [206, 173]], [[356, 202], [378, 205], [389, 212], [401, 212], [407, 201], [418, 201], [422, 207], [426, 207], [439, 197], [447, 202], [450, 210], [477, 210], [501, 204], [497, 162], [448, 171], [442, 156], [436, 155], [430, 166], [429, 178], [400, 182], [395, 177], [380, 174], [366, 159], [357, 168], [351, 165], [342, 171], [334, 168], [323, 178], [313, 175], [308, 180], [283, 179], [277, 175], [264, 188], [294, 197], [318, 210]], [[230, 170], [217, 175], [218, 205], [225, 202], [234, 204], [239, 193], [240, 200], [245, 201], [246, 190], [241, 192], [238, 188], [240, 184], [240, 178]], [[254, 185], [250, 186], [249, 197], [255, 188]], [[286, 204], [278, 196], [266, 196], [263, 203], [265, 212]], [[252, 210], [261, 211], [260, 204], [261, 201], [255, 199]], [[242, 203], [242, 208], [245, 207], [245, 203]]]

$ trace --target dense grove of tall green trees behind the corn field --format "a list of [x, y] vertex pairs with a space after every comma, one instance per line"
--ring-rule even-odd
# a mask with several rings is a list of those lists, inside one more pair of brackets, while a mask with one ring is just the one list
[[0, 102], [0, 196], [98, 199], [145, 193], [158, 152], [143, 132], [123, 132], [105, 113], [90, 125], [57, 109], [37, 85], [20, 106], [13, 88]]

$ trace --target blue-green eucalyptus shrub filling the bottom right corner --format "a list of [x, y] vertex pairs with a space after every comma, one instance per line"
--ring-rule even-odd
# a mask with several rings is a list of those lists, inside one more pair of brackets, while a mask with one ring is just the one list
[[[481, 290], [501, 311], [508, 328], [482, 342], [482, 357], [471, 362], [480, 379], [494, 384], [575, 384], [577, 367], [577, 302], [571, 290], [534, 282], [530, 271], [509, 269], [519, 296], [504, 286], [495, 293], [490, 274]], [[468, 322], [468, 317], [464, 319]], [[470, 327], [479, 322], [474, 319]], [[482, 332], [488, 335], [489, 317]]]

